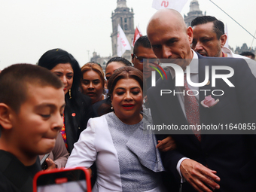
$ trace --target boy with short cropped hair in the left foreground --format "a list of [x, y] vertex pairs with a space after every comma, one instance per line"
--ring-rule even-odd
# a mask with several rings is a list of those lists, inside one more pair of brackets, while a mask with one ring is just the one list
[[0, 73], [0, 191], [32, 191], [38, 154], [52, 151], [65, 106], [49, 70], [16, 64]]

